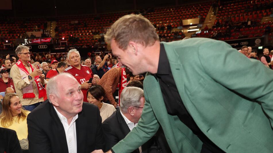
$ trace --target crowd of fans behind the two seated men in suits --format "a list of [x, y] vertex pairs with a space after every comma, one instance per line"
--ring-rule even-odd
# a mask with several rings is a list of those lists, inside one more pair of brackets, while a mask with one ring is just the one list
[[[144, 75], [134, 76], [127, 69], [125, 72], [117, 63], [117, 59], [112, 58], [111, 52], [97, 50], [90, 53], [88, 58], [82, 59], [76, 49], [68, 53], [33, 54], [29, 52], [28, 47], [18, 46], [15, 53], [16, 57], [10, 58], [10, 55], [7, 55], [5, 60], [1, 60], [0, 98], [3, 109], [0, 127], [15, 130], [23, 150], [29, 148], [26, 117], [30, 111], [49, 99], [45, 93], [45, 88], [50, 90], [47, 82], [58, 74], [66, 72], [75, 77], [83, 92], [83, 101], [99, 108], [101, 123], [116, 111], [115, 107], [118, 107], [118, 99], [113, 98], [113, 93], [118, 91], [119, 83], [124, 84], [121, 81], [125, 81], [125, 86], [143, 89]], [[109, 83], [111, 80], [109, 77], [116, 73], [112, 70], [118, 70], [120, 81], [117, 83]], [[109, 94], [108, 89], [113, 89], [113, 92], [110, 91]]]

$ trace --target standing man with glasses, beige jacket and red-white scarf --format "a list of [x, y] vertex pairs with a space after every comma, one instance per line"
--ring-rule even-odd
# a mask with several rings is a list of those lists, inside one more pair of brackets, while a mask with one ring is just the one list
[[30, 64], [29, 48], [20, 45], [15, 50], [19, 60], [11, 67], [10, 75], [24, 109], [32, 111], [46, 97], [43, 85], [47, 83], [42, 70]]

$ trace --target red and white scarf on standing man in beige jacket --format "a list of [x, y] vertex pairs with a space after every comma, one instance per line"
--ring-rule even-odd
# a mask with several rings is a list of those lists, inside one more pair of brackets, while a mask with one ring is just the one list
[[[30, 62], [27, 62], [27, 64], [30, 66], [30, 68], [31, 68], [31, 70], [33, 72], [34, 68], [30, 64]], [[16, 62], [16, 65], [19, 68], [22, 80], [29, 76], [30, 73], [28, 72], [28, 70], [25, 68], [24, 64], [20, 60], [18, 60], [18, 62]], [[38, 91], [39, 91], [39, 98], [46, 97], [46, 91], [45, 91], [45, 88], [40, 83], [39, 76], [35, 76], [34, 81], [35, 81], [36, 86], [37, 86]], [[24, 98], [34, 98], [34, 97], [35, 97], [35, 95], [33, 93], [32, 84], [30, 84], [28, 87], [23, 88], [23, 99]]]

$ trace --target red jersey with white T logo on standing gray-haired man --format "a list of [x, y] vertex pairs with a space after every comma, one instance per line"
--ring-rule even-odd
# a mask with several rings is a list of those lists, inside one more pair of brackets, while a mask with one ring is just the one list
[[[80, 70], [75, 68], [74, 66], [70, 66], [64, 70], [64, 72], [68, 72], [72, 74], [80, 84], [83, 84], [85, 81], [88, 81], [90, 78], [93, 78], [92, 70], [86, 65], [80, 65]], [[83, 93], [83, 101], [87, 101], [87, 90], [82, 89]]]

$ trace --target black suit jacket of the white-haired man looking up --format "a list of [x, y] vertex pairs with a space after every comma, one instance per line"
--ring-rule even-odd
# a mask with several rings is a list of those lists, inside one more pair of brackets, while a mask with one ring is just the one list
[[[27, 117], [29, 149], [32, 153], [66, 153], [64, 127], [49, 101], [36, 107]], [[95, 105], [83, 103], [76, 119], [77, 152], [104, 149], [101, 116]]]

